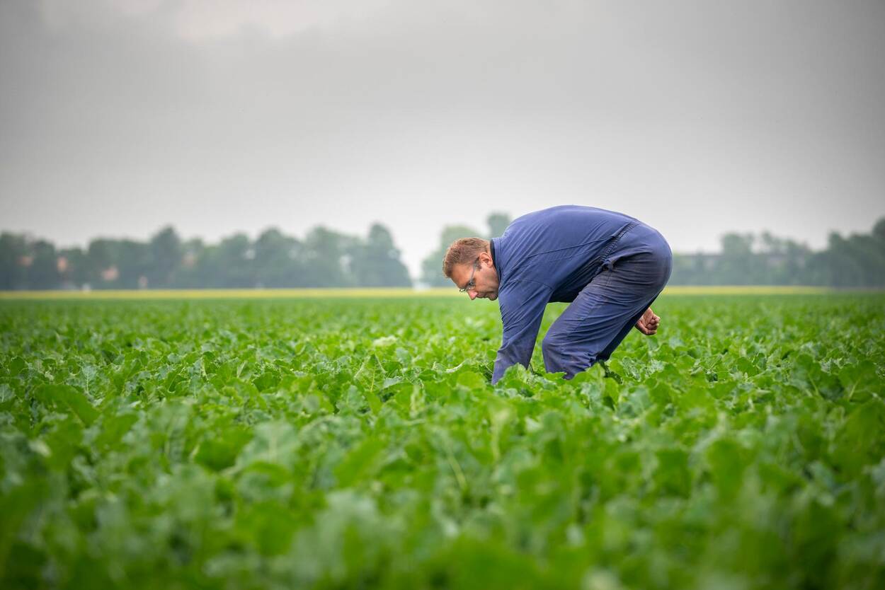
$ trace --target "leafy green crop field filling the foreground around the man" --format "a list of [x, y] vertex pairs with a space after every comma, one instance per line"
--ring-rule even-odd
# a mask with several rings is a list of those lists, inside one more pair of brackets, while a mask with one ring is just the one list
[[885, 587], [885, 295], [654, 309], [492, 387], [466, 297], [0, 301], [0, 587]]

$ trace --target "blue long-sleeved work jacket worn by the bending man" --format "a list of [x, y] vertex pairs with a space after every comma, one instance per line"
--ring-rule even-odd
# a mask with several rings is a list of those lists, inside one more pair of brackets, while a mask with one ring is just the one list
[[628, 239], [627, 230], [639, 224], [615, 211], [562, 205], [517, 218], [491, 240], [504, 323], [493, 383], [512, 364], [531, 362], [547, 303], [574, 301], [606, 266], [648, 251]]

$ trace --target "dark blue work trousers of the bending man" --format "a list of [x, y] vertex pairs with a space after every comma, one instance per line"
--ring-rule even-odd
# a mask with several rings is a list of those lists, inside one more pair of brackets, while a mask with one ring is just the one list
[[629, 230], [611, 251], [602, 271], [544, 336], [541, 349], [548, 372], [565, 372], [571, 379], [607, 360], [670, 278], [673, 254], [664, 237], [648, 226]]

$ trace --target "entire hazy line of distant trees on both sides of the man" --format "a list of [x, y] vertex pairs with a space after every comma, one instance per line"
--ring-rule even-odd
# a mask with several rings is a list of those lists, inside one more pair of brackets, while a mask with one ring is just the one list
[[[488, 231], [447, 226], [421, 265], [420, 282], [450, 287], [445, 249], [459, 237], [495, 237], [510, 217], [493, 213]], [[885, 287], [885, 218], [871, 234], [830, 234], [827, 249], [771, 234], [726, 234], [717, 254], [674, 254], [671, 285]], [[183, 241], [165, 227], [149, 241], [96, 239], [86, 249], [0, 234], [0, 290], [55, 288], [409, 287], [412, 279], [389, 230], [365, 238], [316, 227], [304, 239], [268, 229], [216, 244]]]

